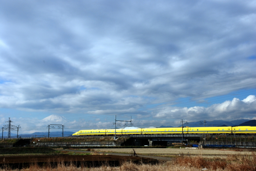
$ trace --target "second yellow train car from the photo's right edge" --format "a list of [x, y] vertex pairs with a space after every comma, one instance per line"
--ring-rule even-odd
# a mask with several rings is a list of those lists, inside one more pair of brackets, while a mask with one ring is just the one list
[[188, 134], [232, 134], [232, 127], [190, 127]]

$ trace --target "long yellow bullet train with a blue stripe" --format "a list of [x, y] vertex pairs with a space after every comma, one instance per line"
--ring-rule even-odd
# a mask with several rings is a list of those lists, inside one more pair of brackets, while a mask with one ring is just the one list
[[[73, 136], [106, 136], [106, 135], [136, 135], [136, 134], [182, 134], [179, 128], [138, 128], [126, 127], [121, 129], [85, 129], [73, 134]], [[219, 134], [219, 135], [255, 135], [256, 127], [183, 127], [183, 134]]]

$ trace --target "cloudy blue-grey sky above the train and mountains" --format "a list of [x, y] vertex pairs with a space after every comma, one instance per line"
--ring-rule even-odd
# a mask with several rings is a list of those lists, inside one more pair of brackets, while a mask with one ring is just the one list
[[255, 0], [1, 1], [0, 126], [256, 119], [255, 21]]

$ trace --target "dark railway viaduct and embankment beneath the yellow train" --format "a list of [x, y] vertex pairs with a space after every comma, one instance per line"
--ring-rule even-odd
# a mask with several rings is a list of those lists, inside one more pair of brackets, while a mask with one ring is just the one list
[[[15, 140], [16, 139], [16, 140]], [[63, 146], [63, 147], [100, 147], [100, 146], [170, 146], [175, 143], [201, 142], [203, 146], [232, 146], [232, 147], [256, 147], [256, 136], [249, 135], [204, 135], [184, 134], [182, 135], [130, 135], [118, 136], [73, 136], [73, 137], [25, 137], [5, 138], [0, 142], [0, 147], [12, 146]]]

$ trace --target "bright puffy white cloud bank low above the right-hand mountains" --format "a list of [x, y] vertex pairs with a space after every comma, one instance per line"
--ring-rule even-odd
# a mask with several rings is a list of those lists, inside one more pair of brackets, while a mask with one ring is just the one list
[[253, 119], [256, 114], [256, 98], [250, 95], [244, 100], [233, 98], [220, 104], [214, 104], [209, 107], [194, 106], [184, 107], [174, 110], [163, 110], [155, 115], [156, 118], [186, 119], [190, 121], [198, 120], [236, 120]]

